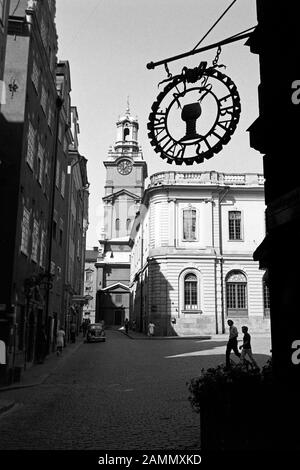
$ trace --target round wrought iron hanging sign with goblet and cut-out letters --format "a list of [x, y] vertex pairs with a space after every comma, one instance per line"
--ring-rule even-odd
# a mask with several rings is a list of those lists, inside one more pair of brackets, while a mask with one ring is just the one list
[[168, 163], [202, 163], [220, 152], [236, 129], [240, 97], [216, 62], [184, 67], [163, 81], [169, 83], [152, 105], [147, 128], [155, 152]]

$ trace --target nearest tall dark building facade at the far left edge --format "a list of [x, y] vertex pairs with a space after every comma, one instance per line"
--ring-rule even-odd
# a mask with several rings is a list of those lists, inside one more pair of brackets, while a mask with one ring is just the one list
[[[2, 335], [10, 370], [35, 359], [38, 330], [46, 322], [54, 141], [55, 2], [11, 2], [1, 108]], [[46, 28], [47, 25], [47, 28]], [[7, 203], [6, 201], [9, 201]]]

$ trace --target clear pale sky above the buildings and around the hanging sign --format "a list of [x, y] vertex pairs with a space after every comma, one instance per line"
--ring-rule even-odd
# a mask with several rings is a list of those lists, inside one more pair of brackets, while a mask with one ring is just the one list
[[[79, 151], [88, 160], [89, 229], [87, 248], [99, 246], [103, 226], [105, 167], [108, 149], [116, 141], [116, 121], [130, 111], [139, 121], [139, 144], [148, 175], [161, 171], [220, 171], [263, 173], [262, 155], [250, 148], [247, 129], [258, 117], [258, 57], [246, 40], [223, 46], [219, 64], [236, 84], [241, 117], [230, 142], [201, 164], [170, 165], [154, 152], [147, 134], [153, 101], [167, 78], [164, 66], [147, 63], [192, 50], [232, 0], [57, 0], [58, 59], [71, 69], [71, 102], [79, 114]], [[237, 0], [201, 43], [201, 47], [257, 24], [256, 1]], [[208, 66], [216, 50], [169, 64], [176, 75], [201, 61]], [[146, 182], [147, 186], [148, 181]]]

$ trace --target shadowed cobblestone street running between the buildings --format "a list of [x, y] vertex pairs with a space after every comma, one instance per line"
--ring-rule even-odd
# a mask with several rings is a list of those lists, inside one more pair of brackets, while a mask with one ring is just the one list
[[[186, 382], [224, 362], [226, 339], [130, 339], [107, 331], [82, 343], [41, 384], [2, 391], [4, 450], [199, 450], [199, 415]], [[268, 338], [253, 338], [260, 365]], [[38, 366], [34, 366], [38, 367]]]

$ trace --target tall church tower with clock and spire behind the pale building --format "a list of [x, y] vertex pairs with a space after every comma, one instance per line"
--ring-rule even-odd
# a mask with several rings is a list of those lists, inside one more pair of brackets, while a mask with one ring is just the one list
[[119, 326], [129, 319], [129, 236], [144, 194], [147, 164], [138, 144], [138, 120], [127, 109], [117, 121], [117, 138], [106, 168], [104, 227], [97, 263], [96, 321]]

